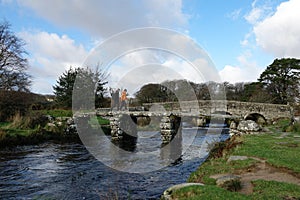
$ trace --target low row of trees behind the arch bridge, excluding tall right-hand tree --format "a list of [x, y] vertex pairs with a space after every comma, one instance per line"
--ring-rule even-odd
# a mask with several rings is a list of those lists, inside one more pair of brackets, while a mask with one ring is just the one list
[[271, 94], [259, 82], [194, 83], [187, 80], [166, 81], [161, 84], [144, 85], [136, 94], [140, 103], [192, 101], [192, 100], [234, 100], [245, 102], [275, 103]]

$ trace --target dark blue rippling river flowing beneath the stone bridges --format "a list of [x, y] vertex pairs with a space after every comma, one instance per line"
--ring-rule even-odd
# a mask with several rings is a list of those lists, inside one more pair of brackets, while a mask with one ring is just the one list
[[[191, 128], [182, 130], [182, 140]], [[186, 182], [205, 160], [207, 141], [225, 139], [227, 134], [206, 134], [198, 129], [180, 159], [162, 169], [128, 173], [97, 160], [84, 145], [43, 143], [0, 150], [0, 199], [159, 199], [174, 184]], [[152, 137], [143, 137], [152, 134]], [[144, 139], [143, 139], [144, 138]], [[134, 151], [160, 145], [160, 135], [138, 132]], [[107, 155], [109, 156], [109, 155]], [[154, 156], [151, 162], [161, 162]], [[143, 162], [142, 162], [143, 163]], [[147, 168], [149, 163], [145, 162]], [[143, 164], [141, 164], [143, 165]]]

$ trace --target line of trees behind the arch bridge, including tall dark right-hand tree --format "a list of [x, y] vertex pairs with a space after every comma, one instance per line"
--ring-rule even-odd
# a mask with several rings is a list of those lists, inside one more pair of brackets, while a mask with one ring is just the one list
[[257, 82], [194, 83], [187, 80], [147, 84], [135, 94], [140, 103], [217, 100], [287, 104], [299, 102], [300, 60], [275, 59]]

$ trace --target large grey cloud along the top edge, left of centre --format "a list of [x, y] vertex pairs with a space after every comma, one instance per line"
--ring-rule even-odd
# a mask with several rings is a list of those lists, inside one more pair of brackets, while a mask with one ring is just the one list
[[55, 24], [84, 29], [104, 38], [137, 27], [181, 27], [188, 19], [182, 12], [181, 0], [20, 0], [19, 3]]

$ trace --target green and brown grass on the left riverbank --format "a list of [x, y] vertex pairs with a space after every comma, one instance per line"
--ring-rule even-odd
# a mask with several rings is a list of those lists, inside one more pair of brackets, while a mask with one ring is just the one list
[[12, 122], [0, 123], [0, 147], [37, 144], [48, 140], [72, 141], [77, 140], [76, 136], [64, 134], [65, 122], [61, 126], [47, 126], [47, 119], [44, 115], [57, 117], [70, 117], [70, 110], [43, 110], [32, 111], [26, 116], [15, 115]]

